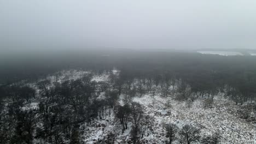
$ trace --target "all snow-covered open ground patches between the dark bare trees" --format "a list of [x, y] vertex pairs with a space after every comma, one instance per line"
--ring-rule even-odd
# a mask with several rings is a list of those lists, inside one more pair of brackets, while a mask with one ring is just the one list
[[[114, 74], [118, 74], [118, 70], [113, 70]], [[59, 75], [49, 76], [47, 79], [54, 81], [65, 81], [79, 79], [90, 71], [61, 71]], [[94, 75], [91, 81], [107, 82], [109, 74]], [[32, 84], [31, 84], [32, 85]], [[102, 92], [99, 99], [103, 98]], [[119, 104], [123, 105], [124, 95], [121, 94]], [[212, 109], [205, 109], [203, 101], [205, 99], [196, 99], [188, 108], [185, 101], [174, 100], [174, 95], [168, 98], [161, 97], [156, 93], [154, 97], [151, 94], [144, 94], [142, 97], [135, 96], [132, 101], [143, 105], [144, 114], [150, 116], [150, 127], [146, 130], [142, 139], [145, 143], [166, 143], [168, 139], [165, 137], [166, 131], [162, 127], [163, 123], [176, 124], [178, 128], [182, 128], [185, 124], [194, 125], [201, 129], [201, 137], [213, 135], [217, 131], [220, 133], [221, 143], [255, 143], [255, 125], [247, 122], [245, 119], [237, 115], [240, 105], [235, 105], [234, 101], [225, 99], [221, 94], [214, 97]], [[170, 108], [167, 109], [166, 101], [170, 101]], [[38, 101], [26, 104], [22, 109], [38, 109]], [[128, 129], [122, 134], [119, 119], [115, 118], [113, 110], [110, 116], [102, 119], [96, 119], [94, 123], [80, 126], [83, 132], [83, 140], [85, 143], [95, 143], [106, 139], [107, 134], [112, 133], [117, 138], [116, 143], [127, 143], [130, 141], [131, 122]], [[178, 141], [174, 141], [178, 143]]]

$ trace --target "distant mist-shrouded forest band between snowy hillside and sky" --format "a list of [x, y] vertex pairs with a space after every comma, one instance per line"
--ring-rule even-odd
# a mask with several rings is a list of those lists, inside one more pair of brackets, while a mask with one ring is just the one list
[[0, 83], [37, 80], [60, 70], [83, 69], [103, 71], [117, 68], [131, 76], [162, 74], [189, 77], [219, 74], [240, 79], [256, 74], [256, 57], [202, 55], [195, 52], [110, 50], [34, 53], [1, 59]]

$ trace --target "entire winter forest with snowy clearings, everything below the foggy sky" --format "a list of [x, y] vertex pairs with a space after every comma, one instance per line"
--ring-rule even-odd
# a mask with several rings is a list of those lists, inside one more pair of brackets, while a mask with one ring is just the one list
[[53, 59], [1, 68], [0, 143], [255, 141], [254, 56], [91, 52]]

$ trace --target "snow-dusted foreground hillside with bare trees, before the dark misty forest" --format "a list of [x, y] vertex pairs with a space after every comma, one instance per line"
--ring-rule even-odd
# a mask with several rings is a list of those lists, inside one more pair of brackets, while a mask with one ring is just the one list
[[157, 81], [120, 70], [65, 70], [13, 83], [2, 89], [9, 96], [1, 142], [254, 143], [254, 99], [236, 101], [226, 87], [194, 92], [167, 75]]

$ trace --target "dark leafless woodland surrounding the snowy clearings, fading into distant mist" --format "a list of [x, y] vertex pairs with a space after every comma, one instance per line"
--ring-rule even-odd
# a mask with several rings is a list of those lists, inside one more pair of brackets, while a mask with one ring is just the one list
[[[70, 56], [71, 57], [71, 56]], [[82, 136], [88, 125], [114, 113], [122, 133], [131, 124], [131, 143], [141, 143], [150, 129], [151, 117], [141, 104], [131, 99], [138, 95], [160, 93], [186, 101], [188, 109], [197, 98], [205, 98], [211, 109], [214, 97], [224, 97], [244, 105], [241, 117], [256, 112], [256, 57], [218, 56], [180, 52], [113, 52], [90, 53], [74, 59], [63, 57], [45, 61], [28, 59], [19, 67], [12, 63], [1, 68], [0, 143], [86, 143]], [[50, 61], [55, 61], [51, 62]], [[24, 62], [24, 63], [22, 63]], [[118, 74], [113, 73], [113, 68]], [[58, 81], [58, 71], [83, 69], [90, 71], [76, 80]], [[94, 75], [106, 73], [110, 82], [92, 81]], [[46, 79], [53, 75], [56, 80]], [[103, 94], [103, 98], [99, 99]], [[120, 95], [124, 103], [119, 104]], [[38, 109], [24, 109], [37, 100]], [[168, 103], [166, 102], [168, 107]], [[97, 125], [95, 125], [97, 127]], [[163, 124], [168, 143], [219, 143], [220, 135], [202, 138], [200, 129], [172, 123]], [[96, 143], [114, 143], [116, 135], [109, 133]]]

